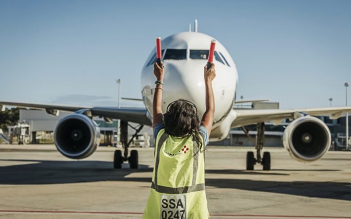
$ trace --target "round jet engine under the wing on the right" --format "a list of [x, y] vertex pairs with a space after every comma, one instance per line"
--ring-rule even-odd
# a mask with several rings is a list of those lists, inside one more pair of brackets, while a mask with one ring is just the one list
[[322, 120], [311, 116], [300, 117], [285, 129], [283, 144], [293, 159], [312, 162], [327, 153], [331, 134]]

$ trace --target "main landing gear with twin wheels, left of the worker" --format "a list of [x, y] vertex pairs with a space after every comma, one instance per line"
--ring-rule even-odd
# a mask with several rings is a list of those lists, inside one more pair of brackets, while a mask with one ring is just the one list
[[128, 157], [128, 147], [132, 143], [133, 139], [137, 137], [137, 134], [143, 128], [143, 125], [139, 125], [138, 128], [132, 127], [136, 130], [136, 133], [132, 136], [132, 138], [128, 141], [128, 122], [127, 121], [120, 121], [120, 141], [124, 148], [124, 157], [122, 156], [121, 150], [116, 150], [114, 155], [114, 168], [119, 169], [122, 167], [122, 163], [125, 161], [129, 162], [131, 169], [138, 168], [138, 152], [137, 150], [132, 150], [130, 156]]

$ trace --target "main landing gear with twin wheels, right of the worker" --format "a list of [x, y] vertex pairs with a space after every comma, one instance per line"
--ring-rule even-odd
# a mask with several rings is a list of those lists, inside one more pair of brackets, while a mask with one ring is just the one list
[[254, 170], [254, 164], [256, 163], [262, 164], [263, 170], [271, 170], [271, 154], [269, 152], [264, 152], [263, 157], [261, 157], [261, 152], [264, 145], [264, 122], [257, 123], [256, 128], [257, 135], [256, 141], [254, 141], [254, 139], [252, 139], [249, 135], [249, 131], [245, 128], [245, 126], [241, 127], [246, 136], [250, 139], [251, 142], [253, 142], [256, 149], [256, 158], [254, 157], [254, 152], [252, 151], [249, 151], [246, 154], [246, 170]]

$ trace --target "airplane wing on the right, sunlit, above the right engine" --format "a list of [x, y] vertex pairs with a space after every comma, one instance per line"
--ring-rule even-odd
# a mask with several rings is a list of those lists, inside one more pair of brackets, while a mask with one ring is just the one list
[[274, 124], [279, 124], [283, 119], [296, 119], [304, 114], [311, 116], [329, 115], [330, 119], [338, 119], [343, 113], [351, 113], [351, 106], [306, 109], [239, 109], [234, 110], [234, 114], [236, 115], [231, 127], [234, 128], [265, 121], [273, 121]]

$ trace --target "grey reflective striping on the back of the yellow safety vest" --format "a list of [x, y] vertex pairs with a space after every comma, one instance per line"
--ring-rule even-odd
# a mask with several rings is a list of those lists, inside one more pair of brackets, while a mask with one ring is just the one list
[[205, 190], [205, 183], [196, 184], [197, 169], [198, 169], [198, 156], [199, 156], [200, 149], [199, 149], [198, 140], [195, 138], [195, 136], [193, 136], [193, 178], [192, 178], [192, 185], [191, 186], [184, 186], [184, 187], [177, 187], [177, 188], [158, 185], [157, 173], [158, 173], [161, 147], [162, 147], [162, 144], [168, 138], [168, 136], [169, 135], [167, 133], [163, 133], [157, 142], [157, 148], [156, 148], [157, 154], [156, 154], [156, 162], [155, 162], [155, 178], [154, 178], [154, 182], [152, 182], [152, 184], [151, 184], [151, 188], [155, 189], [159, 193], [167, 193], [167, 194], [184, 194], [184, 193], [189, 193], [189, 192], [196, 192], [196, 191]]

